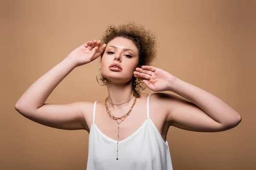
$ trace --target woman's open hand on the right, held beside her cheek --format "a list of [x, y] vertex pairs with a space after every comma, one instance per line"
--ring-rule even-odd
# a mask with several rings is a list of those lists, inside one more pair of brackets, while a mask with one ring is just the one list
[[134, 77], [143, 81], [147, 88], [155, 92], [170, 90], [177, 79], [167, 71], [147, 65], [136, 68]]

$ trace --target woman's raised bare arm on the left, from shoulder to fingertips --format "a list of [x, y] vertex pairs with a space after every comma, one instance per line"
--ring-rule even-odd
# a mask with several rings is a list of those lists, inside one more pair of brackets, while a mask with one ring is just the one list
[[73, 102], [65, 105], [46, 104], [56, 86], [76, 67], [87, 64], [100, 56], [106, 45], [88, 41], [73, 50], [63, 61], [35, 81], [15, 104], [15, 109], [26, 118], [58, 129], [88, 130], [84, 114], [90, 102]]

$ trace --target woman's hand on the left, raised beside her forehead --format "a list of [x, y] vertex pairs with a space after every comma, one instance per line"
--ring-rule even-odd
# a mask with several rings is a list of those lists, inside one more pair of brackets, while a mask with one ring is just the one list
[[100, 47], [100, 44], [100, 40], [87, 41], [85, 44], [73, 50], [67, 56], [67, 59], [74, 61], [76, 66], [87, 64], [98, 58], [107, 46], [106, 44], [103, 44]]

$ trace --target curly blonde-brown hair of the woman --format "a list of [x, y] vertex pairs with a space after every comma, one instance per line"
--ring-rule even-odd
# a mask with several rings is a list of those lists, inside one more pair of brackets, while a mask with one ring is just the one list
[[[139, 51], [139, 63], [142, 65], [151, 65], [151, 62], [156, 58], [158, 40], [157, 36], [153, 31], [145, 29], [141, 24], [135, 23], [124, 23], [119, 26], [110, 25], [106, 31], [102, 34], [101, 45], [108, 44], [111, 40], [116, 37], [123, 37], [132, 40]], [[102, 52], [100, 62], [102, 61], [102, 56], [105, 51]], [[107, 79], [102, 76], [102, 82], [106, 83]], [[145, 85], [139, 79], [134, 76], [131, 79], [133, 95], [140, 97], [140, 92], [145, 90]]]

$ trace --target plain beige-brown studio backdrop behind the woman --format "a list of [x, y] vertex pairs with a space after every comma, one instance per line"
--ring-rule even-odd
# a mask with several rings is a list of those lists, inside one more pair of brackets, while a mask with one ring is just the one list
[[[256, 168], [255, 0], [6, 0], [0, 6], [1, 170], [86, 169], [86, 131], [37, 124], [14, 105], [74, 48], [126, 21], [158, 34], [153, 66], [220, 97], [242, 116], [237, 127], [218, 133], [170, 127], [174, 169]], [[99, 68], [99, 59], [76, 68], [47, 102], [105, 99], [106, 88], [95, 79]]]

